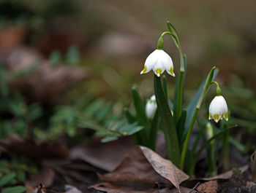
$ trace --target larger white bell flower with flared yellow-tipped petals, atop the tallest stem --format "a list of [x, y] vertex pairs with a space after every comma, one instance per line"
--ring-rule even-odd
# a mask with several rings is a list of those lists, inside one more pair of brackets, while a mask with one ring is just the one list
[[148, 73], [153, 69], [154, 74], [160, 76], [164, 71], [175, 76], [173, 72], [173, 60], [164, 50], [154, 50], [148, 58], [146, 58], [143, 71], [140, 74]]

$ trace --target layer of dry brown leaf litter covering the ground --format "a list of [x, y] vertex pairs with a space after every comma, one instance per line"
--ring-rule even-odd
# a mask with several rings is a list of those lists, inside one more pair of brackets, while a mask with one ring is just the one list
[[[40, 183], [52, 187], [58, 176], [62, 176], [62, 183], [65, 181], [65, 184], [70, 184], [65, 192], [76, 193], [82, 188], [91, 192], [214, 193], [218, 189], [216, 180], [230, 180], [234, 175], [232, 170], [212, 178], [192, 180], [193, 186], [198, 181], [206, 181], [193, 189], [192, 185], [186, 185], [189, 176], [176, 168], [172, 162], [144, 146], [132, 146], [132, 141], [124, 138], [109, 143], [100, 143], [98, 139], [88, 146], [77, 146], [71, 150], [63, 143], [26, 140], [16, 135], [10, 135], [7, 140], [1, 140], [0, 143], [4, 149], [15, 154], [26, 155], [33, 159], [45, 159], [42, 161], [43, 168], [39, 173], [29, 175], [26, 181], [27, 187], [36, 187]], [[107, 166], [102, 166], [107, 162], [109, 162]], [[241, 173], [247, 169], [247, 165], [239, 168]], [[97, 172], [102, 182], [94, 184], [97, 183], [97, 179], [87, 177], [89, 170], [93, 173]], [[104, 170], [110, 173], [104, 174]], [[84, 184], [83, 187], [80, 186], [81, 182]], [[244, 185], [244, 189], [249, 189], [249, 186], [252, 186], [251, 189], [255, 187], [254, 184], [249, 184]], [[50, 189], [48, 192], [51, 192]]]

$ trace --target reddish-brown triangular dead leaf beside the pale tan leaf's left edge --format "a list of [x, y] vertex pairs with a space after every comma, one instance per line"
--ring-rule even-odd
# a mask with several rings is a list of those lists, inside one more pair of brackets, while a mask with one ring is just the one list
[[170, 181], [159, 175], [150, 165], [140, 146], [133, 146], [112, 173], [98, 174], [98, 176], [102, 181], [116, 183], [155, 184], [159, 182], [170, 184]]

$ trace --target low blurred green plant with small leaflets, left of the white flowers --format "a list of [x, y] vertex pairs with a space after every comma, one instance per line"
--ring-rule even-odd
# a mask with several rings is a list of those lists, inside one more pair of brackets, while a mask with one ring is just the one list
[[84, 95], [73, 105], [57, 106], [48, 130], [35, 129], [34, 135], [54, 140], [66, 133], [69, 138], [75, 138], [91, 129], [95, 131], [94, 135], [102, 137], [102, 142], [107, 142], [132, 135], [142, 128], [137, 122], [129, 124], [124, 116], [117, 115], [112, 103], [102, 99], [92, 100], [89, 95]]

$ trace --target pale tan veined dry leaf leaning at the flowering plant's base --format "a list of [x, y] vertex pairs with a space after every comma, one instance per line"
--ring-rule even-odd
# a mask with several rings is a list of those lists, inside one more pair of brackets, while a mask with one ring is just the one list
[[182, 181], [189, 178], [186, 173], [179, 170], [170, 160], [160, 157], [157, 153], [144, 146], [140, 146], [140, 149], [154, 170], [162, 177], [167, 178], [177, 189]]

